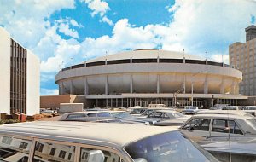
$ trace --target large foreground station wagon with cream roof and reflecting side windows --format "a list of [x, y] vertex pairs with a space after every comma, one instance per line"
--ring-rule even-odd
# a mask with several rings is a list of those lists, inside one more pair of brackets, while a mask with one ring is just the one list
[[175, 128], [136, 124], [2, 125], [0, 151], [7, 162], [218, 162]]

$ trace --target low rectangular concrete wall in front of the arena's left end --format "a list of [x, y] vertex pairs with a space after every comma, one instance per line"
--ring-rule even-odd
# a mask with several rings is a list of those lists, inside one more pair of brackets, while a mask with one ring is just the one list
[[61, 103], [59, 113], [82, 112], [83, 103]]

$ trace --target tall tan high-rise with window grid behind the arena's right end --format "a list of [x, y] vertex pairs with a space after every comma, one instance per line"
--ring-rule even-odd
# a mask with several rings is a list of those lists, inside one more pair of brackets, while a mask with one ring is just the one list
[[230, 66], [243, 74], [241, 95], [256, 95], [256, 26], [248, 26], [245, 31], [246, 43], [230, 44]]

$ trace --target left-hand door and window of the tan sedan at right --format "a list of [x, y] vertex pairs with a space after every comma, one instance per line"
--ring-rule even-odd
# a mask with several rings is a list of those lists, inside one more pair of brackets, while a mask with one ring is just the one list
[[209, 118], [194, 118], [184, 124], [181, 130], [190, 139], [201, 142], [210, 136], [210, 124]]

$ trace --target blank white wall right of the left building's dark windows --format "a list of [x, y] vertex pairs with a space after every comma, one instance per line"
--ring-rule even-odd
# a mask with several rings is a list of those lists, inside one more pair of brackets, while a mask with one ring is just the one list
[[40, 110], [40, 61], [27, 50], [26, 114], [34, 115]]

